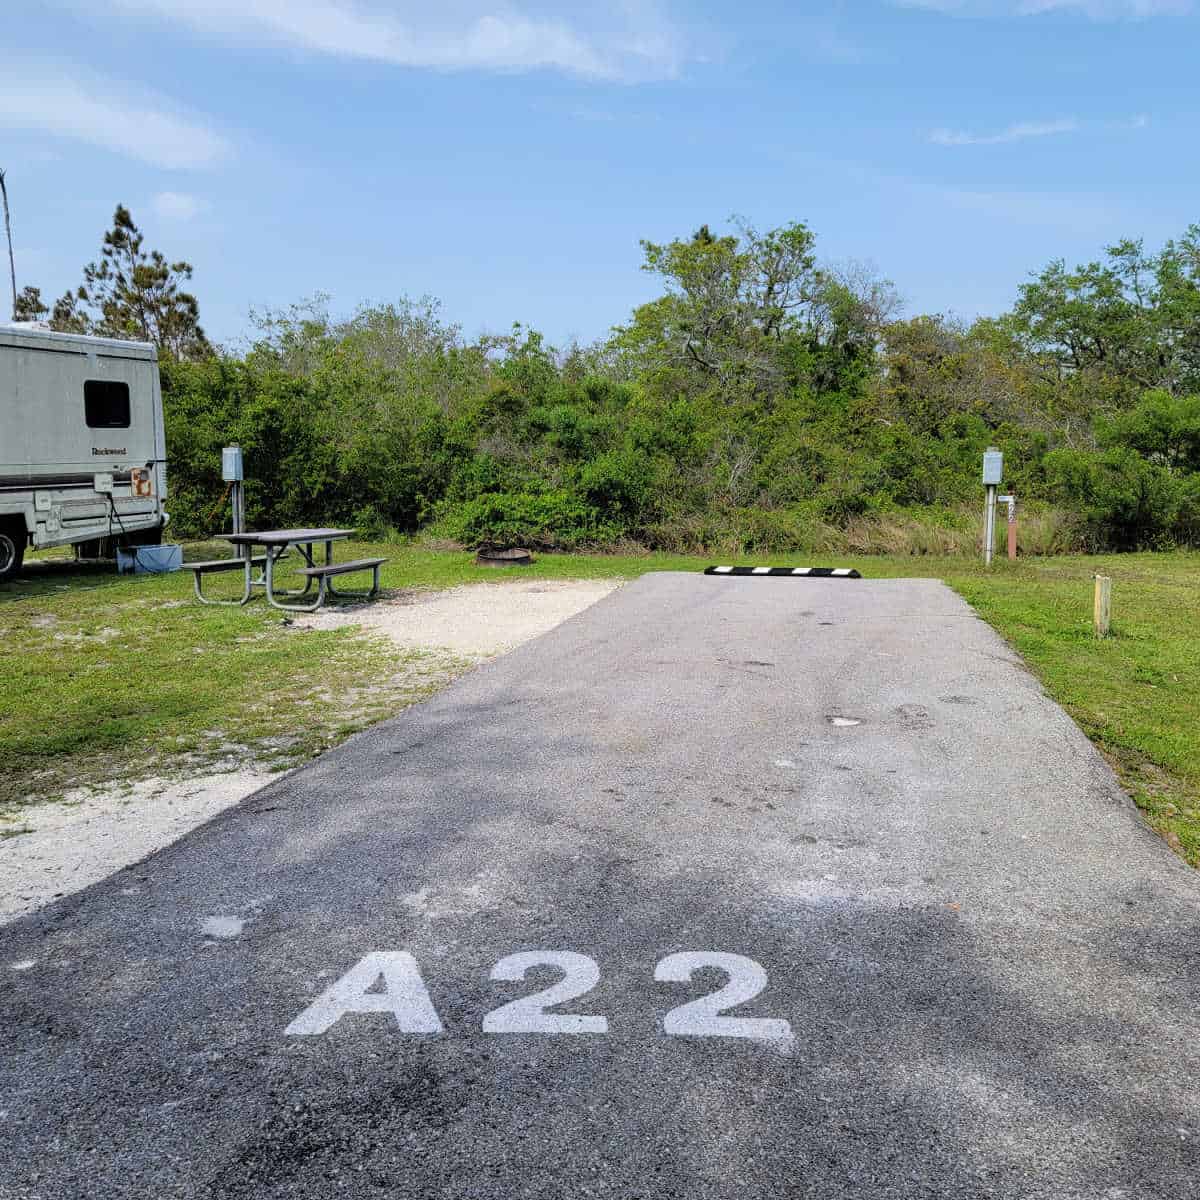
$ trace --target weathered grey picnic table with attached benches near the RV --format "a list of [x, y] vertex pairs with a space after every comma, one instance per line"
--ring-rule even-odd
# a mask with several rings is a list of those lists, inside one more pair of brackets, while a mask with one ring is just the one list
[[[187, 563], [186, 565], [193, 572], [196, 595], [202, 604], [244, 605], [251, 600], [254, 589], [258, 588], [266, 595], [268, 604], [282, 608], [284, 612], [316, 612], [328, 596], [370, 599], [379, 590], [379, 568], [386, 562], [385, 558], [360, 558], [350, 563], [334, 562], [334, 542], [353, 535], [353, 529], [265, 529], [259, 533], [224, 534], [224, 540], [232, 542], [238, 551], [236, 558], [218, 559], [211, 563]], [[313, 547], [322, 542], [325, 545], [325, 562], [318, 563]], [[277, 590], [275, 587], [276, 564], [293, 548], [307, 563], [307, 566], [298, 571], [304, 577], [304, 587]], [[260, 550], [262, 553], [256, 554], [256, 550]], [[257, 578], [254, 577], [256, 568], [259, 572]], [[245, 578], [240, 599], [214, 600], [203, 594], [200, 580], [204, 575], [239, 569], [242, 570]], [[334, 587], [334, 576], [349, 575], [354, 571], [372, 572], [370, 592], [338, 592]], [[317, 584], [317, 596], [311, 602], [305, 601], [313, 583]]]

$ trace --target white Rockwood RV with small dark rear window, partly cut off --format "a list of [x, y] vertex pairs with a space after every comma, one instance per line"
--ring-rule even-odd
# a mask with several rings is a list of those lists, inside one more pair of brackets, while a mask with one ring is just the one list
[[161, 541], [166, 460], [152, 344], [0, 325], [0, 580], [26, 546]]

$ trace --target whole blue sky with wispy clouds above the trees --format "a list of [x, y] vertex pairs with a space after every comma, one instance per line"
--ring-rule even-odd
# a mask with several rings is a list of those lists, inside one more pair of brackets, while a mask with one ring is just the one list
[[0, 46], [18, 282], [77, 284], [121, 202], [226, 343], [322, 290], [563, 344], [655, 294], [640, 238], [739, 214], [998, 312], [1200, 221], [1198, 7], [41, 0]]

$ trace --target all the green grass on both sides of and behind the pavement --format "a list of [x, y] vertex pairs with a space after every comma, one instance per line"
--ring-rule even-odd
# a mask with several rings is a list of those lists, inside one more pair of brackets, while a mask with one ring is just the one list
[[[192, 558], [223, 553], [188, 547]], [[389, 559], [385, 588], [632, 578], [709, 562], [544, 554], [532, 568], [496, 570], [420, 545], [338, 547], [340, 558], [372, 553]], [[1150, 823], [1200, 865], [1200, 554], [1026, 559], [990, 571], [962, 558], [839, 565], [944, 578], [1097, 743]], [[1114, 577], [1114, 634], [1104, 641], [1091, 631], [1097, 571]], [[101, 779], [196, 770], [230, 752], [290, 766], [461, 670], [348, 630], [299, 632], [281, 616], [262, 600], [200, 607], [190, 574], [118, 577], [35, 557], [28, 576], [0, 584], [0, 806]]]

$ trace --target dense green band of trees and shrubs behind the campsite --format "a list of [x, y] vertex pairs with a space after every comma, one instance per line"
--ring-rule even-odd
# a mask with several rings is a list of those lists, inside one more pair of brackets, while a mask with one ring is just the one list
[[245, 354], [182, 338], [163, 356], [175, 529], [227, 522], [238, 442], [260, 527], [966, 550], [994, 444], [1026, 550], [1200, 544], [1200, 227], [1052, 263], [971, 325], [900, 319], [889, 282], [822, 266], [803, 224], [643, 251], [661, 295], [588, 347], [469, 340], [432, 301], [338, 320], [320, 299], [259, 316]]

